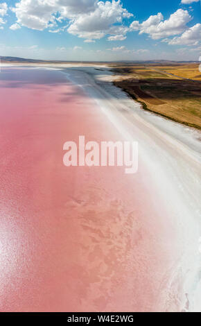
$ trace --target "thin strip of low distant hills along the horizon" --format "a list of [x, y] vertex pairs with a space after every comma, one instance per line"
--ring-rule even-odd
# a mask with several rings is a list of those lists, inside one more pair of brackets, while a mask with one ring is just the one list
[[[15, 62], [15, 63], [45, 63], [45, 62], [78, 62], [78, 61], [64, 61], [64, 60], [35, 60], [35, 59], [26, 59], [26, 58], [18, 58], [18, 57], [7, 57], [7, 56], [1, 56], [0, 55], [1, 62]], [[94, 61], [95, 62], [95, 61]], [[96, 61], [97, 62], [97, 61]], [[98, 61], [103, 62], [103, 61]], [[105, 61], [104, 61], [105, 62]], [[128, 63], [128, 64], [134, 64], [134, 63], [144, 63], [144, 64], [152, 64], [152, 65], [177, 65], [182, 63], [200, 63], [200, 61], [173, 61], [173, 60], [121, 60], [121, 61], [115, 61], [118, 63]], [[89, 61], [85, 61], [85, 63], [89, 63]], [[114, 63], [114, 61], [110, 61], [108, 63]]]

